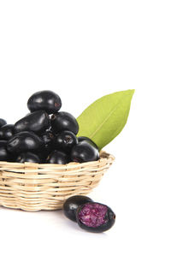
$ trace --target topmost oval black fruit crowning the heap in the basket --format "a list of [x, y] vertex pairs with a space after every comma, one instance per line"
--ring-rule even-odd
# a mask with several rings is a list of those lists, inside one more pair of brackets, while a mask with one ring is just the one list
[[35, 92], [27, 102], [27, 107], [31, 112], [45, 110], [48, 114], [53, 114], [60, 110], [61, 106], [61, 98], [51, 91]]

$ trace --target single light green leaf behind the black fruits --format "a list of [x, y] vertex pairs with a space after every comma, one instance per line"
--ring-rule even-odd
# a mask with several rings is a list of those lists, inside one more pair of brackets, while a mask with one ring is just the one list
[[93, 140], [99, 150], [121, 133], [127, 122], [134, 90], [115, 92], [98, 98], [77, 118], [78, 136]]

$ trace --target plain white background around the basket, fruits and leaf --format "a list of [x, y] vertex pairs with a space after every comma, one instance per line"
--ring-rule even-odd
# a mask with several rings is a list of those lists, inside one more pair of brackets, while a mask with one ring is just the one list
[[0, 117], [25, 116], [43, 89], [74, 116], [136, 90], [127, 126], [105, 148], [115, 164], [90, 194], [115, 211], [114, 228], [91, 234], [62, 211], [0, 207], [3, 256], [171, 254], [170, 12], [164, 0], [0, 1]]

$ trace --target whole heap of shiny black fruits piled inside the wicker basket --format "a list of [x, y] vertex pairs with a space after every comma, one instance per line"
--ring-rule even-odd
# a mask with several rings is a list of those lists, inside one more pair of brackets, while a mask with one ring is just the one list
[[61, 98], [51, 91], [32, 94], [31, 113], [7, 124], [0, 119], [0, 161], [39, 164], [89, 162], [99, 158], [96, 144], [77, 137], [79, 124], [68, 112], [59, 111]]

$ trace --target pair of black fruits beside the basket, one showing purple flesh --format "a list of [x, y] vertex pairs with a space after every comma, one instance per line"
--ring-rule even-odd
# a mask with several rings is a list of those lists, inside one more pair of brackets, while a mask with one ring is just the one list
[[115, 223], [115, 213], [109, 206], [93, 202], [89, 197], [75, 195], [68, 198], [63, 211], [66, 217], [77, 222], [81, 229], [100, 233]]

